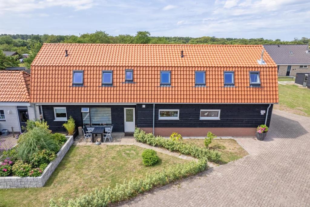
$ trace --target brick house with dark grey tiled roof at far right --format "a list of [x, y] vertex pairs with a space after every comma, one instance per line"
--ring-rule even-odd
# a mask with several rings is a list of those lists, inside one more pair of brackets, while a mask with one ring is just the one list
[[264, 45], [264, 48], [278, 65], [278, 76], [310, 72], [308, 45]]

